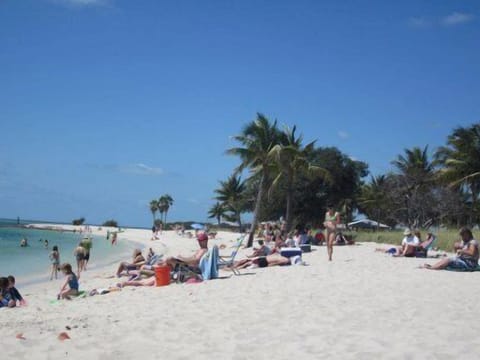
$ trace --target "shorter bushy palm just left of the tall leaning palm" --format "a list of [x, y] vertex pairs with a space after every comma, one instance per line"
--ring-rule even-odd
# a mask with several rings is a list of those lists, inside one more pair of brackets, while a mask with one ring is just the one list
[[220, 187], [215, 190], [216, 199], [221, 201], [224, 214], [232, 213], [231, 218], [242, 228], [241, 213], [245, 210], [245, 182], [239, 176], [231, 175], [226, 181], [220, 181]]

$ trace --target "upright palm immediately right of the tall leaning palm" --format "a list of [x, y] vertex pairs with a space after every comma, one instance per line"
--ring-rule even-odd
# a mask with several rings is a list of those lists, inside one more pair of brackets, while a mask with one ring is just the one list
[[327, 170], [314, 166], [309, 162], [309, 156], [314, 149], [315, 141], [303, 147], [303, 136], [299, 135], [296, 137], [295, 131], [296, 126], [292, 129], [285, 127], [283, 133], [280, 134], [280, 144], [273, 146], [269, 153], [269, 156], [273, 157], [277, 164], [277, 176], [272, 183], [271, 189], [278, 186], [281, 179], [285, 179], [286, 183], [285, 221], [287, 231], [290, 231], [292, 226], [294, 184], [298, 175], [305, 173], [329, 179]]

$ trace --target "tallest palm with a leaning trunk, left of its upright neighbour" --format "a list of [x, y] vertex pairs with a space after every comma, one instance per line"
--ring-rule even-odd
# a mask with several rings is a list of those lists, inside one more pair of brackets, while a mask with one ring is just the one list
[[253, 211], [252, 226], [250, 227], [247, 243], [247, 247], [251, 247], [258, 223], [260, 204], [267, 189], [270, 168], [273, 164], [272, 157], [269, 156], [269, 153], [272, 148], [279, 143], [277, 121], [271, 123], [268, 118], [258, 113], [257, 118], [248, 123], [243, 128], [241, 134], [234, 136], [233, 139], [242, 145], [242, 147], [227, 150], [227, 154], [240, 157], [241, 164], [236, 169], [236, 172], [238, 173], [248, 168], [252, 172], [252, 176], [259, 175], [260, 177]]

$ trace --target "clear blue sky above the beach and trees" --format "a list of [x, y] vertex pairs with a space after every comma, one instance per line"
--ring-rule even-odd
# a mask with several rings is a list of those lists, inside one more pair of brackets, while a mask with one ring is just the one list
[[391, 169], [480, 119], [478, 1], [3, 0], [0, 217], [206, 221], [262, 112]]

